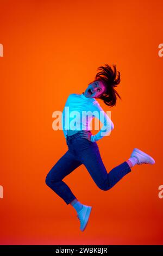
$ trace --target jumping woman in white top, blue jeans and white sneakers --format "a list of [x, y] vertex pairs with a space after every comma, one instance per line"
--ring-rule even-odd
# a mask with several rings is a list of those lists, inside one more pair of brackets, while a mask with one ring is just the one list
[[[99, 153], [96, 143], [99, 139], [107, 136], [114, 129], [114, 124], [102, 107], [96, 101], [101, 99], [109, 107], [116, 105], [117, 96], [115, 87], [120, 83], [120, 72], [116, 66], [112, 68], [108, 64], [100, 66], [95, 80], [89, 84], [82, 94], [70, 94], [67, 98], [64, 111], [62, 113], [62, 126], [67, 152], [59, 159], [46, 176], [46, 184], [62, 198], [65, 203], [72, 205], [77, 211], [80, 220], [80, 230], [84, 231], [89, 221], [92, 206], [87, 206], [78, 201], [67, 184], [63, 181], [65, 176], [74, 169], [84, 164], [92, 179], [101, 190], [110, 190], [124, 175], [131, 172], [131, 167], [135, 164], [154, 164], [154, 159], [140, 149], [133, 149], [129, 159], [113, 168], [109, 173], [106, 171], [104, 163]], [[121, 99], [121, 97], [120, 97]], [[82, 114], [87, 114], [87, 118], [81, 118]], [[88, 112], [89, 111], [89, 112]], [[71, 115], [72, 113], [72, 115]], [[75, 125], [71, 125], [70, 120], [76, 113]], [[92, 114], [93, 113], [93, 114]], [[103, 127], [92, 135], [90, 123], [92, 118], [99, 118]], [[73, 123], [73, 122], [72, 122]]]

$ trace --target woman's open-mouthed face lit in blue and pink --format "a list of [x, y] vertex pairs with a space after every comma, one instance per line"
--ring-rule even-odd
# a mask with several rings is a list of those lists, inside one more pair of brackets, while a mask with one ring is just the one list
[[105, 86], [102, 81], [94, 81], [90, 83], [84, 92], [85, 97], [97, 98], [105, 92]]

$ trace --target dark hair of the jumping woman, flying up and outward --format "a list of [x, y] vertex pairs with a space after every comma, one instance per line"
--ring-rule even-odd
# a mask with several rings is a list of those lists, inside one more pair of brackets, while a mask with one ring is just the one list
[[99, 99], [103, 100], [106, 105], [109, 107], [113, 107], [116, 105], [117, 96], [121, 99], [121, 96], [115, 90], [115, 87], [121, 82], [120, 72], [116, 70], [116, 65], [113, 64], [109, 66], [105, 64], [105, 66], [99, 66], [97, 70], [100, 70], [96, 77], [95, 81], [102, 81], [106, 88], [105, 92], [99, 96]]

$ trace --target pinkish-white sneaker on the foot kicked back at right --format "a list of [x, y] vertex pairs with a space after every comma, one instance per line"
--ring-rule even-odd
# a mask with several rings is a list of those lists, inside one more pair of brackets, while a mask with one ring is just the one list
[[155, 163], [154, 159], [151, 156], [147, 155], [140, 149], [135, 148], [133, 150], [133, 152], [131, 153], [130, 157], [132, 157], [132, 156], [135, 156], [137, 158], [137, 161], [138, 161], [137, 164], [142, 164], [142, 163], [154, 164]]

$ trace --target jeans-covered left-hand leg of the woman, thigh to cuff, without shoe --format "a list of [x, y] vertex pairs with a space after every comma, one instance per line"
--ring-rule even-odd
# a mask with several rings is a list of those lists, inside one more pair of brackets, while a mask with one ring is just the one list
[[62, 181], [74, 169], [82, 163], [75, 160], [73, 154], [68, 150], [53, 166], [46, 176], [46, 184], [61, 197], [66, 204], [70, 204], [76, 199], [67, 184]]

